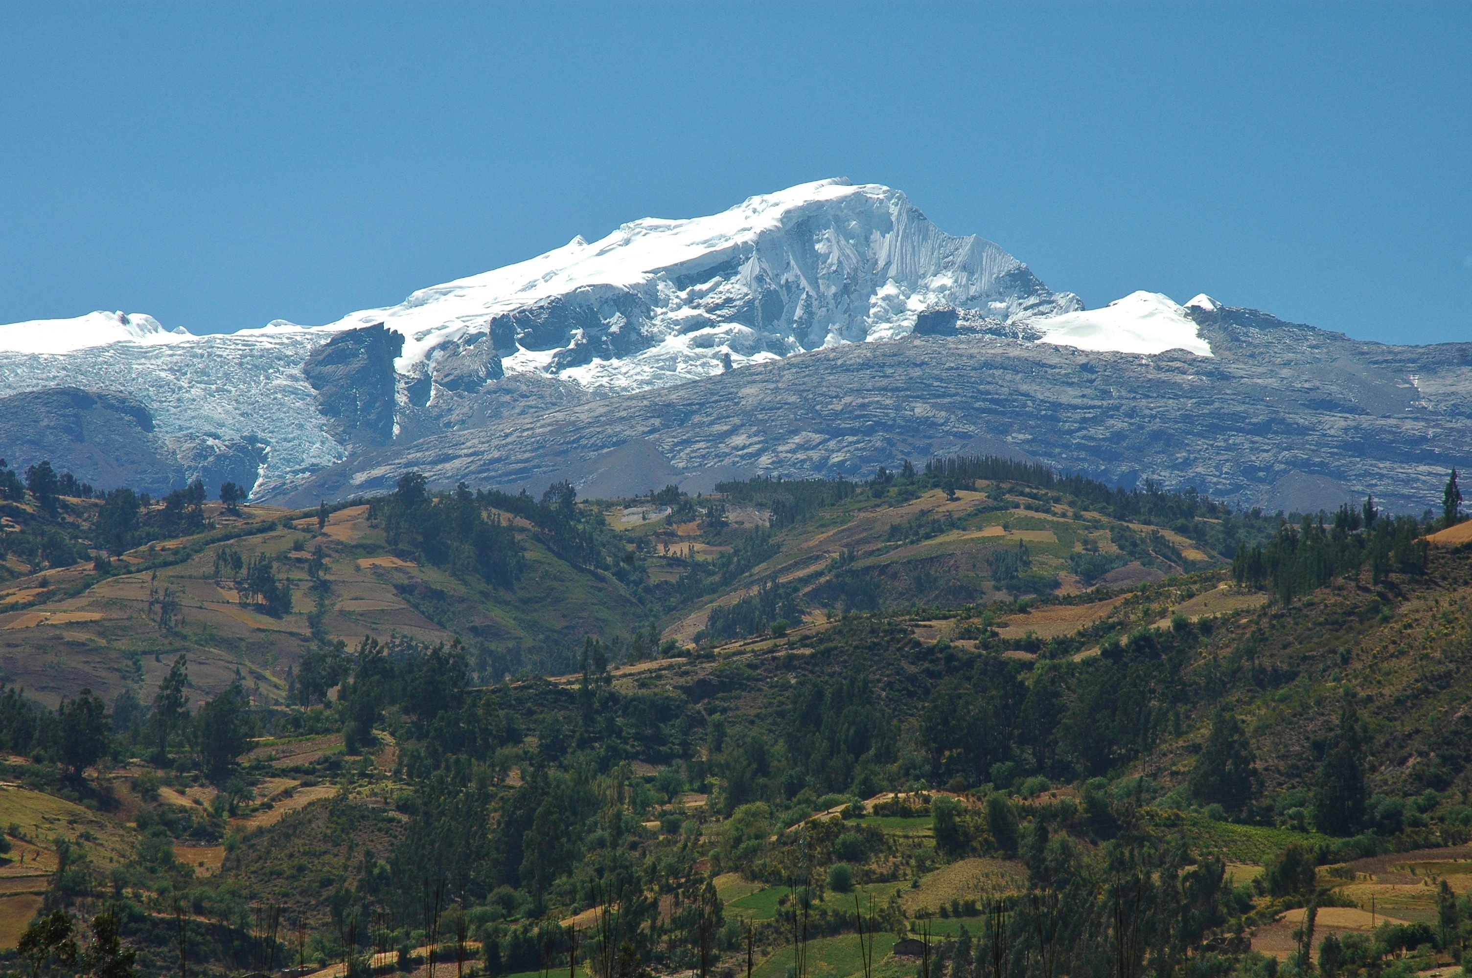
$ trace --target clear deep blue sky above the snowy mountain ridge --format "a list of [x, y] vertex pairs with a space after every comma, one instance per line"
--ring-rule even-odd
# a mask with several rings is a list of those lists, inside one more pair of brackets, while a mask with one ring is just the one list
[[1101, 306], [1472, 340], [1472, 4], [4, 4], [0, 322], [302, 324], [843, 175]]

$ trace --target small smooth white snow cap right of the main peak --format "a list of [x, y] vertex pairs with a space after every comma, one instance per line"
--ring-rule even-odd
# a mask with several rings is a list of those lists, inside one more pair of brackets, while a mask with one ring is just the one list
[[[1192, 303], [1206, 299], [1197, 296]], [[1169, 296], [1138, 291], [1116, 299], [1103, 309], [1085, 309], [1060, 316], [1029, 319], [1027, 325], [1041, 332], [1041, 343], [1116, 353], [1164, 353], [1188, 350], [1197, 356], [1211, 356], [1207, 343], [1183, 306]]]

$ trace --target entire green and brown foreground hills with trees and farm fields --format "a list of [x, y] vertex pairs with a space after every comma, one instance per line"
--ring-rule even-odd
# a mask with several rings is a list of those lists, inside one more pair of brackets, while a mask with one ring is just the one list
[[1369, 504], [997, 459], [109, 504], [7, 503], [71, 550], [0, 594], [0, 912], [116, 913], [146, 974], [181, 916], [206, 974], [576, 931], [598, 974], [833, 978], [1409, 975], [1472, 918], [1472, 549]]

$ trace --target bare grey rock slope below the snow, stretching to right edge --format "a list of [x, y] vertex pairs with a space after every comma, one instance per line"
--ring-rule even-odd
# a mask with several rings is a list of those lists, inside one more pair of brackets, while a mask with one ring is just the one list
[[428, 437], [349, 460], [286, 499], [378, 491], [411, 468], [440, 484], [590, 478], [601, 456], [634, 440], [686, 474], [852, 476], [992, 438], [1125, 485], [1195, 485], [1275, 509], [1372, 491], [1419, 513], [1447, 469], [1472, 462], [1472, 344], [1390, 347], [1254, 310], [1192, 315], [1214, 357], [991, 335], [842, 346]]

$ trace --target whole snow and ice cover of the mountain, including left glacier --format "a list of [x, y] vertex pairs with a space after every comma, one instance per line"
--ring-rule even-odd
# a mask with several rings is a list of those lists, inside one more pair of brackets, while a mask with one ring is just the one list
[[[489, 424], [515, 397], [627, 394], [926, 324], [1211, 354], [1164, 296], [1085, 310], [997, 244], [941, 231], [901, 191], [829, 179], [707, 218], [634, 221], [324, 326], [196, 337], [100, 312], [0, 326], [0, 396], [124, 393], [190, 476], [244, 481], [259, 499], [367, 447]], [[530, 401], [508, 375], [540, 378]]]

